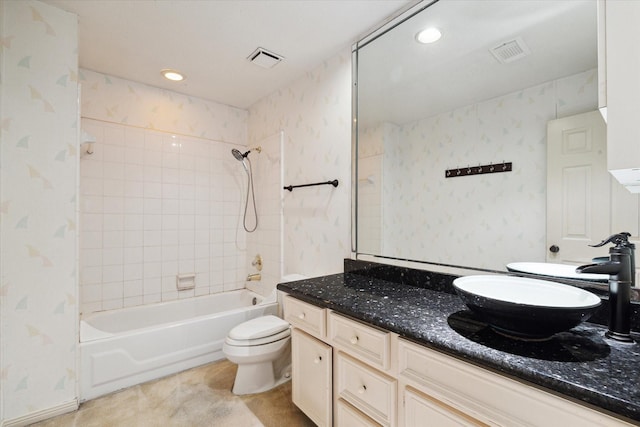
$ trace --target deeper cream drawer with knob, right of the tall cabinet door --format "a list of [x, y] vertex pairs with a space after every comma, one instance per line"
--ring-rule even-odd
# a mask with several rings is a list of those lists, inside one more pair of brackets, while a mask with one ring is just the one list
[[336, 392], [384, 426], [396, 424], [396, 380], [338, 352]]

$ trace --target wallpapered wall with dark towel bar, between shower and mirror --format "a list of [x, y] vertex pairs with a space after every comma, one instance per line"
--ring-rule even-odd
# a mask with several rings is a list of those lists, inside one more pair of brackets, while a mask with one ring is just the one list
[[284, 130], [284, 185], [340, 181], [284, 192], [284, 274], [338, 273], [350, 255], [350, 117], [349, 51], [249, 108], [251, 144]]

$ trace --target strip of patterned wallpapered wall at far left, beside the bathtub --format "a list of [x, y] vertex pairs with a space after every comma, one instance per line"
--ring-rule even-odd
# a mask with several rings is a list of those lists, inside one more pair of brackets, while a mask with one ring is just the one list
[[0, 400], [15, 420], [76, 405], [77, 19], [0, 8]]

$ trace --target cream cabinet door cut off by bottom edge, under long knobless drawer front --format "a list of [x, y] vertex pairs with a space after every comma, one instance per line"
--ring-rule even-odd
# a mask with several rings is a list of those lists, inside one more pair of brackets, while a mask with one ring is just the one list
[[402, 390], [404, 407], [401, 408], [402, 426], [405, 427], [478, 427], [486, 426], [464, 413], [420, 393], [411, 387]]

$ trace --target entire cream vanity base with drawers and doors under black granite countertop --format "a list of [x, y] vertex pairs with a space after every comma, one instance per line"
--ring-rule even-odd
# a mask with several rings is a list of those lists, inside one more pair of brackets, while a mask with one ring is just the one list
[[283, 303], [293, 402], [319, 426], [632, 426], [289, 295]]

